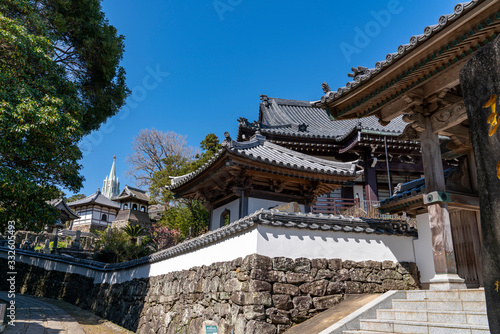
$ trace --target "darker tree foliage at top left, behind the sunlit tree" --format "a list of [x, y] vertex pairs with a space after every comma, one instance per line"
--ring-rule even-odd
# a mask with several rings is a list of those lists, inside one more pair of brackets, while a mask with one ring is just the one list
[[78, 91], [84, 134], [124, 105], [129, 94], [119, 66], [124, 37], [105, 18], [101, 0], [2, 1], [0, 12], [51, 42], [52, 60], [62, 65]]

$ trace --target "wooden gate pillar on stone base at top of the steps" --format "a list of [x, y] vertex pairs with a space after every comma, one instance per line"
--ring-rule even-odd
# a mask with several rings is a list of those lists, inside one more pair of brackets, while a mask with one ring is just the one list
[[[432, 131], [429, 117], [424, 117], [424, 131], [420, 133], [422, 161], [427, 193], [446, 191], [439, 137]], [[457, 274], [457, 264], [451, 236], [448, 204], [435, 202], [427, 206], [432, 237], [432, 253], [436, 276], [431, 279], [431, 289], [448, 290], [465, 288], [464, 280]]]

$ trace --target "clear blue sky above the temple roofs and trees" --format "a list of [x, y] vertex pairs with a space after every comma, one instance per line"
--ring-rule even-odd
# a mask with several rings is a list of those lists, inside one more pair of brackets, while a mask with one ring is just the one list
[[[156, 128], [187, 136], [237, 134], [259, 96], [317, 100], [344, 86], [352, 66], [373, 67], [422, 34], [457, 0], [104, 0], [125, 36], [126, 107], [85, 138], [80, 193], [102, 187], [116, 155], [121, 188], [133, 138]], [[68, 193], [71, 195], [71, 193]]]

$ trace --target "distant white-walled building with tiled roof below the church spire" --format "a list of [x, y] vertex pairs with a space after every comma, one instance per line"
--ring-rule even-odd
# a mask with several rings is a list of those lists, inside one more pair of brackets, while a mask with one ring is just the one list
[[120, 210], [120, 204], [104, 196], [100, 190], [88, 197], [68, 203], [68, 206], [80, 216], [74, 220], [73, 230], [83, 232], [106, 229], [111, 226]]

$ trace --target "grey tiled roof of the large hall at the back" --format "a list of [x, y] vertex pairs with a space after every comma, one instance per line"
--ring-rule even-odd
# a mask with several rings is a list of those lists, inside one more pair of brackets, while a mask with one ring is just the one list
[[285, 100], [262, 96], [260, 104], [261, 123], [250, 123], [240, 119], [240, 127], [263, 134], [278, 134], [304, 138], [342, 140], [355, 129], [371, 130], [399, 135], [407, 125], [402, 116], [382, 126], [375, 116], [332, 121], [325, 110], [311, 106], [310, 102]]

